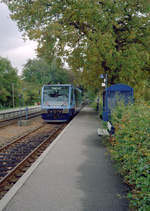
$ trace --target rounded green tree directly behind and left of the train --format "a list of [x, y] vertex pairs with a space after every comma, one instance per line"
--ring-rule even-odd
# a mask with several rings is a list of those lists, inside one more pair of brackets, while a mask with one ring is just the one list
[[44, 84], [71, 83], [72, 76], [69, 71], [61, 68], [56, 60], [51, 63], [38, 58], [29, 60], [24, 68], [20, 93], [22, 104], [32, 105], [41, 101], [41, 88]]

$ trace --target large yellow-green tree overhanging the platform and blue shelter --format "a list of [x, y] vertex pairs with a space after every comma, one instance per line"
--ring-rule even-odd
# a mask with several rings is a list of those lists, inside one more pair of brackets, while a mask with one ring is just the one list
[[63, 56], [86, 87], [99, 87], [99, 75], [106, 72], [109, 83], [124, 82], [137, 91], [150, 79], [148, 0], [3, 2], [20, 30], [39, 42], [39, 55]]

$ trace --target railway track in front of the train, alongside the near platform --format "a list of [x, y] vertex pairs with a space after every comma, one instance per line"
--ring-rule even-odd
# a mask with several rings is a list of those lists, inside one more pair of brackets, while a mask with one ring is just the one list
[[43, 124], [0, 149], [0, 199], [65, 126], [66, 124]]

